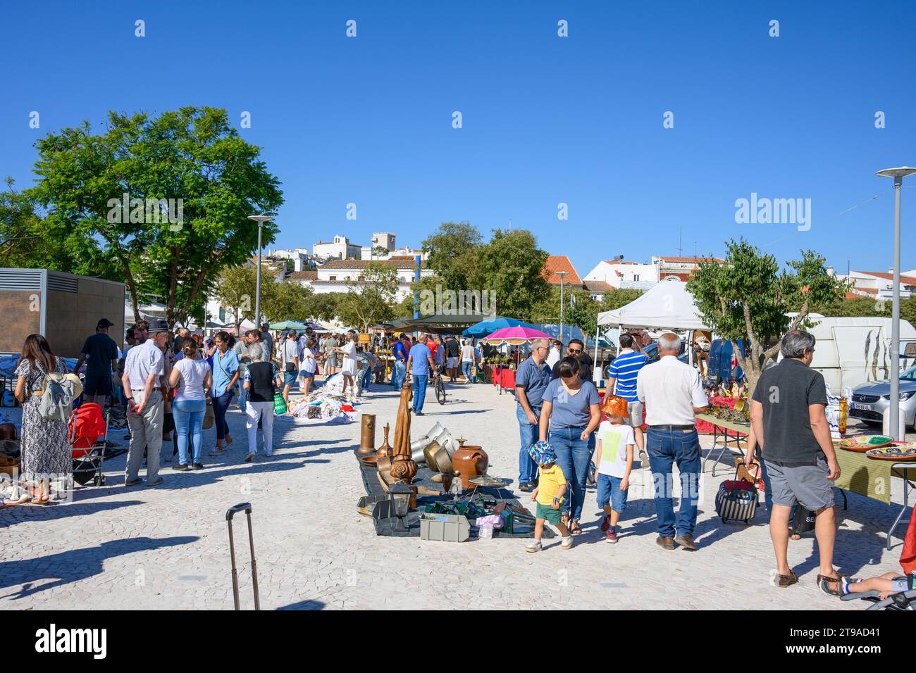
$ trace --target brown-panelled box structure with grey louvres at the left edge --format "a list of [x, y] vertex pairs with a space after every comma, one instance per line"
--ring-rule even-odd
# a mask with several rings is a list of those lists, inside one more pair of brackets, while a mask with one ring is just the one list
[[86, 337], [102, 318], [124, 346], [125, 285], [50, 269], [0, 268], [0, 353], [20, 353], [29, 334], [43, 334], [55, 355], [80, 356]]

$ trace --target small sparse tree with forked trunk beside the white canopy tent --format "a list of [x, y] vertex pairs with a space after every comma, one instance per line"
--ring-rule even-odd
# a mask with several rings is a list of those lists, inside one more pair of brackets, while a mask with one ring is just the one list
[[[782, 336], [810, 324], [812, 305], [838, 303], [845, 285], [827, 273], [823, 257], [811, 250], [780, 271], [773, 255], [743, 238], [726, 246], [725, 265], [701, 263], [687, 289], [707, 324], [732, 342], [753, 393], [764, 367], [779, 353]], [[794, 318], [786, 315], [793, 310], [798, 311]]]

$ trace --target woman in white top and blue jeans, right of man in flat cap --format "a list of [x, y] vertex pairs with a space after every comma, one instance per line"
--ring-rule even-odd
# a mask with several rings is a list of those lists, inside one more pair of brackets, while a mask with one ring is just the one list
[[174, 470], [188, 469], [188, 435], [191, 435], [191, 470], [203, 467], [203, 415], [207, 410], [207, 392], [213, 385], [213, 373], [206, 360], [197, 350], [197, 342], [189, 337], [181, 340], [184, 353], [169, 375], [169, 385], [177, 388], [172, 414], [175, 416], [175, 431], [178, 433], [178, 462]]

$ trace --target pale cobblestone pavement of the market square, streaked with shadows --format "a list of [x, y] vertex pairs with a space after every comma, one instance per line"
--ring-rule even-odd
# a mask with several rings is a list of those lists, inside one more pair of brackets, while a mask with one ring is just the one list
[[[490, 385], [449, 389], [444, 407], [429, 393], [413, 436], [441, 421], [456, 437], [484, 446], [491, 474], [515, 479], [513, 398]], [[378, 443], [398, 405], [389, 386], [381, 390], [359, 407], [376, 414]], [[618, 544], [603, 541], [590, 489], [584, 534], [573, 549], [562, 550], [554, 538], [540, 554], [526, 554], [526, 541], [518, 539], [455, 544], [376, 537], [354, 506], [364, 494], [351, 453], [358, 423], [310, 427], [279, 419], [274, 456], [249, 464], [243, 418], [236, 407], [228, 418], [234, 446], [220, 459], [206, 459], [201, 472], [172, 472], [167, 464], [163, 485], [125, 488], [121, 456], [105, 464], [109, 485], [78, 488], [72, 504], [0, 510], [0, 607], [231, 609], [224, 515], [250, 501], [262, 609], [862, 609], [817, 590], [812, 534], [790, 543], [801, 583], [786, 590], [770, 585], [774, 562], [762, 505], [752, 526], [723, 525], [715, 516], [715, 489], [734, 472], [725, 464], [715, 478], [703, 475], [695, 553], [656, 546], [654, 509], [643, 491], [648, 472], [637, 470]], [[205, 435], [212, 447], [213, 430]], [[894, 481], [899, 504], [902, 486]], [[884, 546], [899, 509], [850, 494], [848, 511], [839, 510], [837, 566], [867, 576], [900, 570], [900, 538], [891, 551]], [[235, 539], [242, 606], [250, 608], [244, 516], [236, 517]]]

